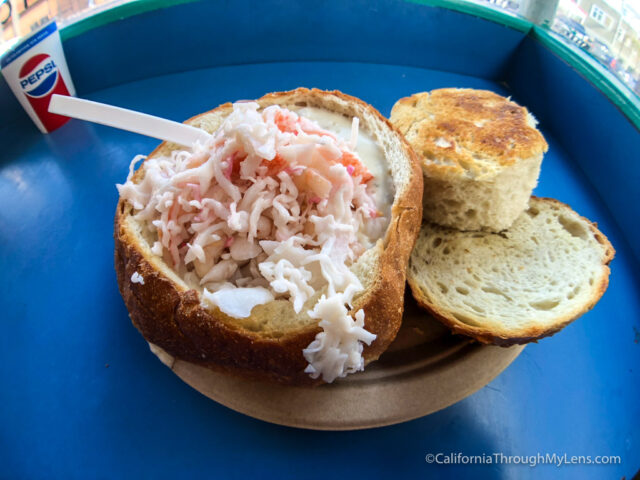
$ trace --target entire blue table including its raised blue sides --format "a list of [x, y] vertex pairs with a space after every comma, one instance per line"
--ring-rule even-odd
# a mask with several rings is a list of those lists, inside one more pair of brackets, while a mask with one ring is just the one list
[[[607, 97], [522, 22], [441, 6], [142, 7], [67, 32], [81, 96], [184, 120], [297, 86], [340, 89], [384, 115], [398, 98], [437, 87], [513, 95], [538, 116], [550, 145], [535, 194], [598, 222], [617, 249], [610, 287], [591, 312], [528, 346], [487, 387], [428, 417], [342, 433], [254, 420], [163, 366], [118, 293], [114, 184], [157, 142], [75, 120], [43, 136], [0, 83], [1, 478], [589, 479], [638, 471], [640, 135]], [[212, 20], [218, 28], [205, 30]], [[493, 463], [425, 461], [458, 452]], [[494, 453], [617, 455], [621, 463], [530, 467], [497, 464]]]

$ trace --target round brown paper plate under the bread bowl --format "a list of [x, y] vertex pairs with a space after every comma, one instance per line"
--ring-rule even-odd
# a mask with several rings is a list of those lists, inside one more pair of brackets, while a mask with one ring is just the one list
[[316, 388], [248, 381], [152, 351], [184, 382], [226, 407], [267, 422], [356, 430], [405, 422], [484, 387], [523, 350], [451, 335], [407, 299], [396, 340], [364, 372]]

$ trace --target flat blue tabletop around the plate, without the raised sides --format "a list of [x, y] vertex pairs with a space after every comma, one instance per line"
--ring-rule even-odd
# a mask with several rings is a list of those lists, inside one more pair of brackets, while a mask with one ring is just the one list
[[[195, 70], [89, 98], [184, 120], [297, 86], [337, 88], [384, 115], [399, 97], [431, 88], [511, 93], [440, 71], [315, 62]], [[130, 324], [113, 270], [114, 184], [156, 141], [75, 120], [48, 136], [24, 122], [0, 130], [0, 477], [630, 478], [640, 466], [637, 264], [575, 159], [546, 136], [535, 193], [597, 221], [618, 250], [601, 302], [452, 407], [330, 433], [267, 424], [210, 401], [158, 362]], [[622, 464], [425, 463], [438, 452], [620, 455]]]

